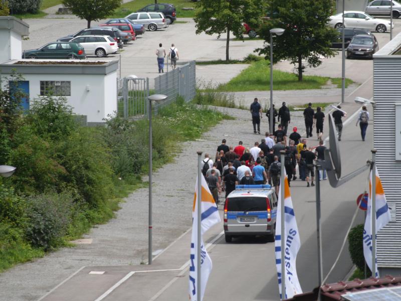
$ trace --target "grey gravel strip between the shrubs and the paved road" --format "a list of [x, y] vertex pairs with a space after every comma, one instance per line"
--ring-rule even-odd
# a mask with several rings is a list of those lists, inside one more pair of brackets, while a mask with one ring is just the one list
[[[173, 163], [153, 175], [153, 250], [165, 248], [191, 225], [191, 208], [196, 177], [196, 151], [213, 157], [222, 138], [229, 145], [239, 140], [251, 146], [263, 135], [254, 135], [248, 110], [218, 108], [234, 117], [225, 120], [205, 133], [202, 139], [183, 142], [182, 152]], [[302, 128], [302, 113], [292, 114], [292, 124]], [[296, 115], [299, 115], [298, 117]], [[262, 132], [268, 128], [262, 119]], [[301, 131], [302, 132], [302, 131]], [[92, 243], [63, 248], [44, 258], [20, 264], [0, 274], [0, 300], [37, 300], [82, 266], [131, 265], [147, 260], [147, 189], [132, 193], [116, 218], [99, 225], [84, 236]], [[90, 240], [84, 240], [90, 242]]]

